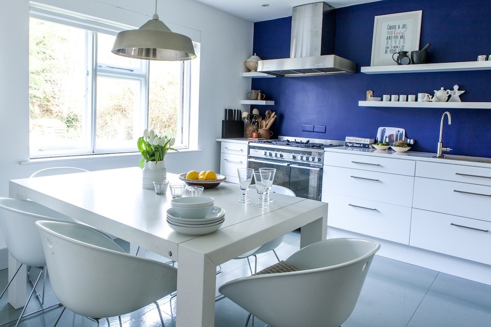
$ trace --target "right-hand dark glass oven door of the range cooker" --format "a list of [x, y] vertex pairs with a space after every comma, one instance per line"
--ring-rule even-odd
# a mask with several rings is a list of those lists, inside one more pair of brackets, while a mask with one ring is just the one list
[[299, 198], [320, 201], [322, 166], [290, 164], [290, 189]]

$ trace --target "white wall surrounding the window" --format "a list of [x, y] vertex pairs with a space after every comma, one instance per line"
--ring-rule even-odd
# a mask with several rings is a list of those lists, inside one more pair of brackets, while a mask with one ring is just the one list
[[[139, 27], [151, 19], [154, 0], [39, 0], [38, 2], [86, 15]], [[198, 129], [200, 151], [169, 153], [170, 172], [219, 170], [223, 109], [248, 109], [240, 100], [250, 89], [242, 78], [244, 61], [251, 55], [253, 24], [194, 0], [161, 0], [158, 14], [173, 31], [201, 42], [199, 114], [191, 117]], [[136, 166], [139, 155], [84, 158], [63, 162], [29, 161], [28, 109], [28, 0], [0, 0], [0, 196], [8, 196], [8, 180], [58, 165], [89, 170]], [[247, 106], [248, 107], [248, 106]], [[136, 144], [135, 144], [136, 150]], [[0, 236], [0, 249], [4, 248]], [[1, 265], [0, 265], [1, 266]]]

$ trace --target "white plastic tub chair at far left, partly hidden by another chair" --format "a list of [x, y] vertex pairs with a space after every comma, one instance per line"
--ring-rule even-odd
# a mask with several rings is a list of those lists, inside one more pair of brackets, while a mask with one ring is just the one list
[[[21, 263], [13, 277], [8, 281], [8, 284], [1, 293], [0, 298], [7, 290], [8, 286], [10, 286], [10, 283], [17, 275], [17, 272], [19, 272], [22, 265], [29, 266], [29, 269], [30, 266], [33, 266], [41, 270], [35, 282], [33, 282], [31, 279], [28, 270], [29, 281], [33, 288], [15, 326], [19, 324], [23, 317], [30, 316], [42, 310], [54, 308], [60, 305], [58, 303], [24, 315], [27, 304], [29, 303], [33, 294], [36, 295], [36, 298], [41, 306], [44, 304], [44, 291], [46, 284], [46, 272], [44, 268], [46, 266], [46, 259], [43, 252], [43, 246], [41, 244], [41, 238], [39, 236], [39, 230], [35, 225], [36, 220], [40, 219], [73, 221], [71, 218], [33, 201], [0, 198], [0, 228], [3, 232], [3, 237], [5, 238], [5, 244], [7, 245], [8, 252], [12, 255], [12, 257]], [[43, 275], [43, 293], [40, 295], [36, 290], [36, 286]]]

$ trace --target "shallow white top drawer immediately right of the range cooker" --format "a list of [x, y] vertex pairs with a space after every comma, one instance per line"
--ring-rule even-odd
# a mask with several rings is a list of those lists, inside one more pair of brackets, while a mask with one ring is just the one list
[[338, 167], [388, 172], [414, 176], [416, 163], [412, 160], [324, 152], [324, 164]]

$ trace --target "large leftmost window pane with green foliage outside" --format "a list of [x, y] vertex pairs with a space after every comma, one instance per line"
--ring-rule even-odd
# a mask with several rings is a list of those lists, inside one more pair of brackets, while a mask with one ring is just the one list
[[29, 28], [31, 153], [87, 149], [86, 32], [34, 18]]

